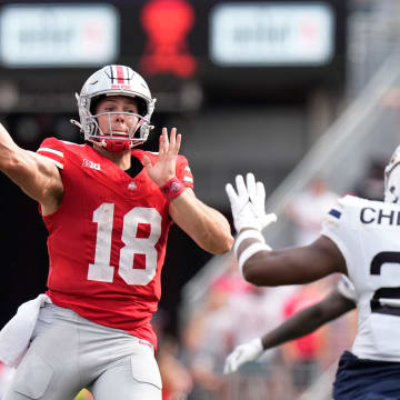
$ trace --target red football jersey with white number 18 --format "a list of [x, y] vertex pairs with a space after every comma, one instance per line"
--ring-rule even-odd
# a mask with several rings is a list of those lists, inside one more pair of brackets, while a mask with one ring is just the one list
[[[171, 224], [169, 203], [143, 168], [131, 178], [88, 144], [46, 139], [38, 153], [58, 166], [64, 193], [43, 217], [49, 231], [48, 294], [54, 304], [150, 341]], [[157, 153], [132, 150], [140, 161]], [[189, 188], [188, 161], [177, 177]]]

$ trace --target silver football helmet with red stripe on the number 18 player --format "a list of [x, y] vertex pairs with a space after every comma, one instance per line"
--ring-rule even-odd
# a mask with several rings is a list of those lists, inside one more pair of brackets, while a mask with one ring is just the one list
[[[109, 133], [100, 130], [94, 107], [97, 101], [106, 96], [128, 96], [138, 101], [139, 114], [131, 112], [107, 112], [109, 116]], [[151, 93], [144, 79], [130, 67], [106, 66], [94, 72], [83, 84], [80, 94], [76, 93], [78, 101], [79, 119], [71, 120], [84, 134], [84, 140], [101, 143], [109, 151], [122, 151], [133, 146], [143, 143], [149, 136], [150, 118], [154, 111], [156, 99]], [[133, 124], [127, 138], [114, 137], [111, 129], [111, 116], [124, 113], [139, 119], [137, 127]], [[136, 134], [138, 132], [138, 134]]]

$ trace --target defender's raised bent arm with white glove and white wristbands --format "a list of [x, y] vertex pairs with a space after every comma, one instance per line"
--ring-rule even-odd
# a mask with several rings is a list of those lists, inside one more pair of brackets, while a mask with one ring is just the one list
[[321, 236], [310, 246], [272, 250], [261, 230], [273, 220], [264, 209], [264, 188], [252, 173], [227, 184], [234, 227], [233, 251], [243, 277], [257, 286], [308, 283], [333, 272], [347, 274], [346, 260], [336, 243]]

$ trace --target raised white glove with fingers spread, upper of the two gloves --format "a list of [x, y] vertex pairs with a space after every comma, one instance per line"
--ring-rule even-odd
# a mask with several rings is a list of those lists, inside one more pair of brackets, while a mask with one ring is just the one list
[[236, 177], [237, 191], [231, 183], [226, 191], [232, 209], [233, 224], [237, 232], [243, 228], [262, 230], [277, 221], [274, 213], [266, 213], [266, 188], [262, 182], [256, 183], [254, 176], [249, 172], [246, 177]]

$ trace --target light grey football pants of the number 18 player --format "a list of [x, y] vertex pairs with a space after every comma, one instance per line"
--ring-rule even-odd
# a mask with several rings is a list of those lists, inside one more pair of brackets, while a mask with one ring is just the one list
[[4, 400], [161, 400], [161, 387], [150, 343], [47, 303]]

